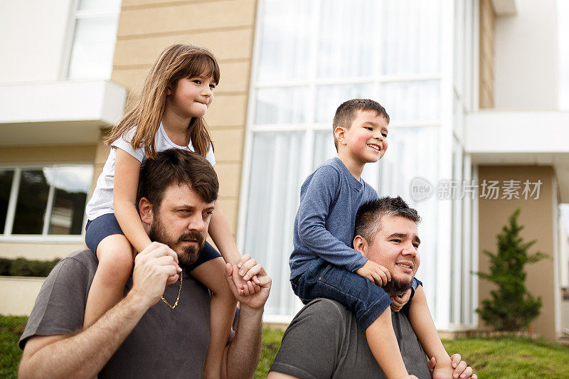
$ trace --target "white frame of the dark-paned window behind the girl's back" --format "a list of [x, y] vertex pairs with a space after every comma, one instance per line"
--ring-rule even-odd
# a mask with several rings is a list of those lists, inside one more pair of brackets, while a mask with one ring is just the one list
[[[6, 223], [4, 224], [4, 230], [0, 231], [0, 241], [1, 242], [82, 242], [85, 240], [85, 224], [87, 223], [87, 215], [83, 212], [83, 222], [81, 228], [81, 234], [78, 235], [50, 235], [48, 234], [51, 210], [53, 208], [53, 199], [55, 196], [55, 186], [50, 185], [48, 190], [48, 201], [46, 202], [46, 213], [43, 217], [43, 229], [40, 234], [17, 234], [11, 233], [14, 227], [14, 218], [16, 217], [16, 205], [18, 202], [18, 194], [21, 184], [21, 172], [27, 170], [42, 170], [46, 167], [54, 169], [56, 172], [58, 167], [73, 167], [73, 166], [90, 166], [93, 170], [94, 167], [91, 163], [73, 163], [73, 164], [18, 164], [10, 166], [0, 166], [3, 170], [14, 171], [14, 176], [12, 177], [12, 183], [10, 188], [10, 197], [8, 201], [8, 208], [6, 209]], [[92, 182], [92, 177], [91, 177]], [[91, 183], [90, 183], [91, 184]], [[90, 193], [87, 191], [87, 201], [89, 201]]]

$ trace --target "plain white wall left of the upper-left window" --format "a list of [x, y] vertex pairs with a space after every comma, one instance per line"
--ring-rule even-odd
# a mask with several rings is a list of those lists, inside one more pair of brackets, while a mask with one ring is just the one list
[[0, 1], [0, 83], [56, 80], [72, 0]]

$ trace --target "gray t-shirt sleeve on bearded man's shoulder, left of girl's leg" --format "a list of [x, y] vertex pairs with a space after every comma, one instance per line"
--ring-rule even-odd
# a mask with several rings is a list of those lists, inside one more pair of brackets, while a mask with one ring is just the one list
[[21, 349], [31, 336], [68, 334], [83, 327], [85, 303], [92, 277], [88, 272], [85, 262], [73, 255], [53, 268], [33, 305], [26, 329], [20, 338]]

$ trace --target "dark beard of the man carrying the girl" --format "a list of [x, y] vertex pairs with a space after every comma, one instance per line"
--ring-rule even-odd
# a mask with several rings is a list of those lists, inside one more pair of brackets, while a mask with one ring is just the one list
[[[159, 219], [159, 215], [156, 214], [154, 223], [150, 225], [150, 230], [148, 233], [150, 240], [164, 243], [164, 245], [168, 245], [172, 250], [174, 250], [178, 254], [178, 261], [181, 266], [189, 266], [195, 263], [196, 260], [198, 260], [201, 248], [205, 243], [203, 235], [198, 232], [188, 232], [181, 235], [176, 240], [173, 237], [170, 237], [168, 233], [166, 233], [166, 228], [164, 225], [162, 225]], [[184, 240], [196, 240], [198, 242], [198, 245], [189, 245], [181, 248], [180, 250], [176, 250], [176, 246], [184, 242]]]

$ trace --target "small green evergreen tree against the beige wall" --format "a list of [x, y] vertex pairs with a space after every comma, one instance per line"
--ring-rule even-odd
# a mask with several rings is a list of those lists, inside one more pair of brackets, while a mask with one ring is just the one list
[[541, 297], [533, 297], [524, 284], [526, 263], [535, 263], [548, 255], [543, 252], [529, 254], [529, 248], [537, 240], [523, 242], [519, 235], [523, 225], [518, 225], [520, 208], [509, 217], [509, 224], [504, 225], [502, 233], [496, 235], [498, 252], [484, 250], [490, 258], [490, 273], [477, 272], [478, 276], [496, 284], [498, 289], [490, 292], [491, 299], [482, 301], [482, 309], [477, 313], [486, 324], [499, 331], [517, 331], [526, 329], [539, 315]]

